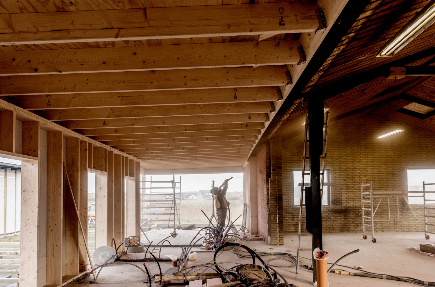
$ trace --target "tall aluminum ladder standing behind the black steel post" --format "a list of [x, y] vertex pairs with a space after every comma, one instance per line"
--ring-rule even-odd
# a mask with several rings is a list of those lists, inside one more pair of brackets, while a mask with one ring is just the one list
[[[323, 202], [323, 185], [325, 181], [325, 177], [323, 176], [325, 174], [325, 163], [326, 163], [326, 146], [328, 143], [328, 123], [329, 123], [329, 112], [326, 112], [326, 120], [323, 123], [323, 130], [325, 131], [324, 137], [323, 137], [323, 153], [321, 156], [322, 159], [322, 169], [321, 169], [321, 183], [320, 183], [320, 192], [321, 192], [321, 199], [320, 202]], [[301, 201], [299, 204], [299, 228], [298, 228], [298, 254], [296, 256], [296, 274], [298, 274], [298, 268], [299, 265], [302, 265], [302, 263], [299, 262], [299, 254], [301, 251], [301, 227], [302, 227], [302, 208], [305, 206], [303, 204], [304, 202], [304, 193], [305, 193], [305, 175], [310, 175], [309, 172], [305, 172], [305, 164], [306, 160], [308, 160], [309, 157], [309, 149], [307, 148], [307, 144], [309, 144], [308, 139], [308, 113], [305, 114], [305, 132], [304, 132], [304, 154], [302, 159], [302, 179], [301, 179]], [[311, 166], [309, 168], [311, 170]]]

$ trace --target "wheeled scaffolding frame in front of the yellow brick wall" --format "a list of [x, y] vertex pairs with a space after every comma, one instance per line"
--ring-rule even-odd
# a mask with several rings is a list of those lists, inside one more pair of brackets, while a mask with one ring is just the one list
[[[425, 237], [426, 239], [429, 239], [429, 236], [427, 233], [431, 233], [427, 231], [427, 226], [435, 226], [435, 224], [427, 224], [427, 217], [426, 217], [426, 209], [433, 209], [435, 210], [435, 207], [426, 207], [426, 194], [427, 193], [435, 193], [435, 191], [426, 191], [425, 185], [435, 185], [435, 184], [425, 184], [423, 182], [423, 190], [418, 191], [373, 191], [373, 183], [370, 181], [369, 184], [364, 184], [361, 182], [361, 216], [362, 216], [362, 238], [367, 239], [367, 235], [371, 235], [371, 241], [373, 243], [376, 243], [376, 237], [375, 237], [375, 221], [424, 221], [425, 222]], [[365, 191], [364, 188], [369, 187], [369, 191]], [[422, 195], [409, 195], [409, 194], [422, 194]], [[424, 219], [420, 219], [415, 214], [414, 210], [412, 209], [411, 205], [408, 202], [407, 197], [422, 197], [423, 198], [423, 207], [425, 211]], [[381, 204], [383, 199], [387, 200], [388, 205], [388, 219], [375, 219], [376, 211], [378, 210], [379, 205]], [[390, 212], [390, 199], [396, 199], [396, 206], [397, 206], [397, 218], [391, 218], [391, 212]], [[399, 198], [403, 198], [406, 201], [406, 204], [408, 205], [409, 209], [412, 211], [412, 214], [414, 214], [414, 219], [401, 219], [400, 213], [399, 213]], [[378, 204], [376, 205], [375, 209], [374, 204], [375, 200], [378, 200]], [[435, 200], [430, 200], [434, 201]], [[366, 205], [365, 205], [366, 204]], [[428, 216], [428, 217], [434, 217], [435, 216]], [[368, 224], [370, 223], [370, 224]], [[366, 227], [370, 228], [370, 232], [366, 230]], [[435, 233], [431, 233], [435, 234]]]

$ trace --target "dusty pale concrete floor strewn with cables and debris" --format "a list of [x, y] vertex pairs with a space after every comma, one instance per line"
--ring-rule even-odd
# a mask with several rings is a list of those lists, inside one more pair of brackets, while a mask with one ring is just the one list
[[[164, 234], [162, 234], [164, 235]], [[302, 248], [311, 248], [311, 238], [302, 237]], [[250, 241], [246, 245], [251, 249], [255, 248], [256, 252], [285, 252], [296, 254], [297, 250], [297, 234], [286, 234], [284, 237], [284, 245], [267, 245], [264, 241]], [[377, 234], [377, 243], [372, 243], [370, 239], [363, 240], [360, 233], [331, 233], [323, 235], [324, 250], [330, 253], [328, 262], [334, 262], [342, 255], [360, 249], [357, 254], [352, 254], [341, 260], [341, 265], [356, 268], [358, 265], [364, 267], [364, 270], [391, 274], [395, 276], [408, 276], [420, 280], [435, 281], [435, 257], [420, 254], [414, 249], [407, 247], [418, 247], [419, 244], [424, 244], [424, 234], [422, 232], [384, 232]], [[430, 242], [435, 240], [431, 239]], [[196, 248], [199, 250], [199, 248]], [[157, 253], [155, 251], [154, 253]], [[162, 257], [166, 254], [181, 254], [181, 247], [164, 247], [162, 249]], [[310, 257], [309, 250], [301, 251], [301, 256]], [[158, 254], [156, 254], [158, 255]], [[142, 257], [143, 254], [128, 254], [128, 257]], [[263, 257], [265, 260], [273, 256]], [[213, 252], [200, 252], [196, 264], [203, 264], [213, 259]], [[306, 260], [306, 259], [303, 259]], [[230, 251], [224, 251], [218, 257], [218, 262], [231, 261], [237, 263], [251, 263], [250, 258], [238, 258]], [[306, 260], [309, 261], [309, 260]], [[289, 262], [284, 260], [274, 260], [271, 264], [287, 265]], [[142, 267], [142, 263], [136, 263]], [[188, 262], [188, 264], [191, 264]], [[232, 267], [234, 264], [226, 264], [226, 267]], [[150, 262], [147, 264], [151, 274], [158, 274], [157, 264]], [[170, 262], [161, 262], [163, 274], [172, 274], [174, 268]], [[336, 267], [344, 270], [358, 272], [346, 267]], [[295, 273], [295, 267], [277, 268], [277, 270], [288, 280], [290, 284], [297, 286], [312, 286], [312, 273], [309, 270], [301, 269], [299, 274]], [[141, 271], [128, 264], [113, 264], [104, 269], [100, 273], [98, 283], [100, 286], [148, 286], [145, 281], [145, 276]], [[382, 280], [375, 278], [355, 277], [338, 274], [329, 274], [329, 286], [411, 286], [406, 282], [393, 280]], [[87, 284], [69, 284], [67, 286], [88, 286]], [[158, 284], [152, 284], [158, 286]]]

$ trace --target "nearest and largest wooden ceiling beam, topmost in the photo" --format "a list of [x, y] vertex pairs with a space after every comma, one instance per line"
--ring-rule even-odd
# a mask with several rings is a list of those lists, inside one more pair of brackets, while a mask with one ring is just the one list
[[319, 26], [315, 10], [290, 2], [3, 14], [0, 44], [308, 33]]

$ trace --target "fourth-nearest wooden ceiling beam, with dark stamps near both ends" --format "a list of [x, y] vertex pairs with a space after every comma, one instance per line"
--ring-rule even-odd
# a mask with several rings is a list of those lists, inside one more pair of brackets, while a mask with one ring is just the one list
[[[159, 46], [161, 47], [161, 46]], [[80, 49], [75, 49], [80, 50]], [[1, 55], [1, 53], [0, 53]], [[270, 102], [280, 100], [279, 87], [239, 87], [222, 89], [135, 91], [115, 93], [66, 93], [8, 97], [26, 110], [93, 107], [133, 107], [204, 103]]]

